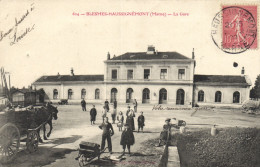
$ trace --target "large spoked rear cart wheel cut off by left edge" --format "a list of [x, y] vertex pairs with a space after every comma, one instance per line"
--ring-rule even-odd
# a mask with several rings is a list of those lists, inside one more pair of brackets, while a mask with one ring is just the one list
[[19, 151], [20, 132], [18, 128], [7, 123], [0, 129], [0, 162], [8, 163], [12, 161]]

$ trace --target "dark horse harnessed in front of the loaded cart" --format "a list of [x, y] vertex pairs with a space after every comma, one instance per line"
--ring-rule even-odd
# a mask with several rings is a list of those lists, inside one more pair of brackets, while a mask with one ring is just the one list
[[[46, 106], [42, 106], [41, 108], [35, 110], [35, 123], [37, 126], [42, 125], [43, 127], [43, 139], [47, 140], [47, 137], [50, 137], [52, 127], [52, 119], [58, 119], [58, 109], [51, 104], [47, 104]], [[50, 126], [50, 130], [47, 133], [46, 137], [46, 124]], [[42, 139], [40, 137], [40, 128], [38, 129], [39, 141], [42, 143]]]

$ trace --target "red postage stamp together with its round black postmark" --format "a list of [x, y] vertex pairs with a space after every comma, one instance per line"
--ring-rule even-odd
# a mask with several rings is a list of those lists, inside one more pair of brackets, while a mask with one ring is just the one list
[[211, 37], [226, 53], [257, 49], [257, 6], [222, 6], [212, 20]]

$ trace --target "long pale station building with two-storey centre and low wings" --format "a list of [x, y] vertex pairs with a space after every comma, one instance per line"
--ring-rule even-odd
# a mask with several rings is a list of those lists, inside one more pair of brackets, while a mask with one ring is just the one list
[[33, 85], [44, 89], [50, 101], [68, 99], [79, 103], [110, 102], [169, 104], [192, 106], [208, 104], [242, 104], [249, 99], [251, 82], [244, 74], [194, 75], [192, 59], [177, 52], [157, 52], [149, 46], [146, 52], [128, 52], [104, 61], [104, 75], [42, 76]]

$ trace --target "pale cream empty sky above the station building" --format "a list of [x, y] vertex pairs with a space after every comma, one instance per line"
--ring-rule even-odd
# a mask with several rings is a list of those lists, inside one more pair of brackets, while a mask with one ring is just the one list
[[[258, 4], [259, 9], [259, 2], [250, 3]], [[76, 75], [104, 74], [108, 52], [111, 56], [145, 52], [148, 45], [154, 45], [159, 52], [176, 51], [190, 58], [194, 48], [196, 74], [240, 75], [245, 67], [245, 74], [254, 83], [260, 74], [260, 50], [228, 54], [212, 40], [212, 20], [221, 10], [221, 4], [232, 1], [0, 0], [0, 33], [3, 36], [11, 29], [0, 38], [0, 67], [10, 72], [11, 85], [21, 88], [42, 75], [68, 75], [71, 68]], [[86, 12], [172, 15], [73, 15]], [[173, 16], [177, 13], [178, 16]], [[23, 38], [18, 39], [23, 33], [26, 33]], [[259, 37], [257, 42], [259, 48]], [[238, 67], [233, 67], [234, 62]]]

